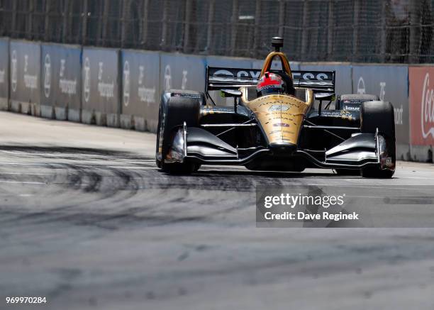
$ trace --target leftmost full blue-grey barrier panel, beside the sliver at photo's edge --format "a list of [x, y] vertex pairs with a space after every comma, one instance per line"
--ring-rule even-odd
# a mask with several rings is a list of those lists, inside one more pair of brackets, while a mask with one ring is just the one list
[[11, 40], [10, 109], [40, 116], [40, 44]]

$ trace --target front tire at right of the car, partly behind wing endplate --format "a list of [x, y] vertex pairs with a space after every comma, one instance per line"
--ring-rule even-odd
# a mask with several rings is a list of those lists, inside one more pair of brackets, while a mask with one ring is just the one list
[[[360, 128], [362, 133], [378, 132], [386, 139], [386, 152], [391, 157], [393, 167], [396, 165], [396, 139], [394, 107], [390, 102], [367, 101], [360, 108]], [[393, 170], [382, 170], [381, 167], [362, 169], [362, 177], [390, 178]]]

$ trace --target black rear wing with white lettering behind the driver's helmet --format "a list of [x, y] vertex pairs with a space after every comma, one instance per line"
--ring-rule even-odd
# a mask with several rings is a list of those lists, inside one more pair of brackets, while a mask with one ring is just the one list
[[[206, 67], [206, 94], [213, 90], [256, 86], [260, 74], [259, 69]], [[292, 76], [294, 87], [312, 89], [317, 97], [335, 94], [335, 71], [292, 71]]]

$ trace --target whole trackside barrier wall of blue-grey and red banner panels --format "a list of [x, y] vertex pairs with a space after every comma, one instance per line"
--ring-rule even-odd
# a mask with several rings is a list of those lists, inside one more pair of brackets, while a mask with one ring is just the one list
[[[165, 89], [205, 88], [205, 68], [260, 68], [261, 60], [88, 48], [0, 39], [0, 109], [138, 131], [157, 130]], [[6, 57], [5, 57], [6, 56]], [[335, 70], [338, 94], [394, 104], [397, 157], [433, 161], [434, 66], [291, 63]], [[223, 99], [218, 99], [224, 104]]]

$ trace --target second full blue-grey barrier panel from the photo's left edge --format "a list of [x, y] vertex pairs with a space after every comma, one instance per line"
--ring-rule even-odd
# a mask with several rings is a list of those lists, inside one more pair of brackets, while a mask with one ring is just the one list
[[43, 44], [40, 113], [46, 118], [80, 121], [82, 48]]

